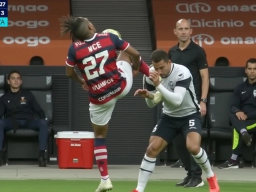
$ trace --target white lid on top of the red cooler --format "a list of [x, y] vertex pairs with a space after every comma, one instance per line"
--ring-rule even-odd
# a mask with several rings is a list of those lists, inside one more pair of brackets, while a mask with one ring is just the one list
[[89, 131], [60, 131], [54, 135], [58, 139], [94, 139], [94, 132]]

